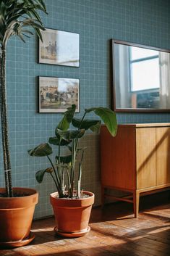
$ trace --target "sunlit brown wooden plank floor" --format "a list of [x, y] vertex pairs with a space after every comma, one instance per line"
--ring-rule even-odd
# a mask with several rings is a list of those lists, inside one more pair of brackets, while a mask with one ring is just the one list
[[16, 249], [1, 249], [13, 256], [170, 256], [170, 200], [161, 193], [140, 200], [140, 215], [132, 205], [119, 202], [93, 209], [91, 231], [77, 239], [54, 236], [54, 218], [35, 220], [35, 240]]

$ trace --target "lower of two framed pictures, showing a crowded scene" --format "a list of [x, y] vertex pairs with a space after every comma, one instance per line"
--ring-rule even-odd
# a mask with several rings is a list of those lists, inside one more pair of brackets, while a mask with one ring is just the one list
[[39, 76], [38, 102], [39, 113], [65, 112], [72, 104], [80, 112], [80, 80]]

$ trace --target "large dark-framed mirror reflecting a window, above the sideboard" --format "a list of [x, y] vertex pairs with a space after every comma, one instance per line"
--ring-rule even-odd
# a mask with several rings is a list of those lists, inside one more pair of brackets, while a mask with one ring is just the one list
[[170, 112], [170, 52], [111, 40], [116, 112]]

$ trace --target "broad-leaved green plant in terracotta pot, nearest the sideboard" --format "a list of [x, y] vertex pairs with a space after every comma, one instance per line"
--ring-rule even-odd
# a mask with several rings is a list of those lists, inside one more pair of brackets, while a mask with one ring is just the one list
[[[56, 185], [56, 192], [50, 195], [50, 202], [56, 218], [56, 234], [66, 237], [77, 237], [86, 234], [90, 228], [88, 221], [90, 210], [94, 202], [94, 194], [89, 191], [81, 191], [82, 160], [84, 148], [80, 148], [79, 140], [85, 135], [85, 131], [98, 132], [101, 120], [106, 124], [112, 136], [116, 135], [116, 115], [105, 107], [93, 107], [86, 109], [82, 118], [75, 118], [76, 106], [67, 108], [59, 124], [56, 126], [55, 136], [49, 138], [48, 143], [36, 146], [28, 150], [32, 157], [48, 157], [51, 167], [38, 170], [35, 177], [41, 183], [45, 173], [51, 176]], [[85, 116], [93, 112], [101, 120], [85, 119]], [[70, 125], [74, 128], [70, 128]], [[53, 153], [50, 144], [55, 145], [55, 162], [51, 160]], [[61, 150], [66, 147], [69, 154]], [[77, 177], [77, 181], [76, 180]]]

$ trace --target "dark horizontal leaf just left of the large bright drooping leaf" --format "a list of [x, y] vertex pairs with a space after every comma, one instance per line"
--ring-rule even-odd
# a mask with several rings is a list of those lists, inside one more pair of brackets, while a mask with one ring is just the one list
[[[72, 125], [77, 127], [77, 128], [82, 128], [82, 129], [85, 129], [86, 131], [92, 127], [95, 127], [96, 125], [96, 128], [100, 128], [100, 124], [101, 124], [101, 121], [100, 120], [81, 120], [79, 118], [73, 118], [72, 119]], [[95, 129], [95, 128], [94, 128]], [[97, 129], [96, 129], [97, 131]]]

